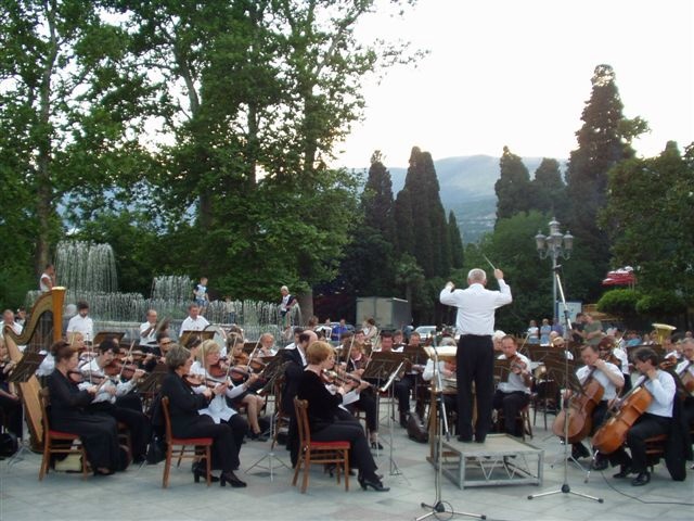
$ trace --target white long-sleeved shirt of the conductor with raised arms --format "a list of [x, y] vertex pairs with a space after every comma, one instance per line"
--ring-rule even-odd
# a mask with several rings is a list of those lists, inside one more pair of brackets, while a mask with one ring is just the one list
[[460, 334], [491, 335], [494, 332], [494, 312], [498, 307], [510, 304], [511, 287], [499, 280], [499, 291], [485, 289], [480, 283], [470, 284], [465, 290], [453, 290], [446, 284], [441, 290], [441, 304], [458, 307], [455, 326]]

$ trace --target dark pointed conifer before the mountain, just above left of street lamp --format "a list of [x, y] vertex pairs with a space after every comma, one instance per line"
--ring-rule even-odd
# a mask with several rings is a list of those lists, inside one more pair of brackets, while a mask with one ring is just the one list
[[518, 212], [527, 212], [532, 204], [530, 173], [523, 160], [503, 148], [499, 160], [501, 175], [494, 183], [497, 193], [497, 221], [512, 217]]

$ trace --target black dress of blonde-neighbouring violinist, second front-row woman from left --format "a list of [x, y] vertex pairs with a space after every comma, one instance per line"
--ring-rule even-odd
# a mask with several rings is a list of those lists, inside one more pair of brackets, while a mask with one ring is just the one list
[[211, 437], [213, 469], [229, 472], [239, 468], [239, 450], [231, 427], [215, 423], [211, 417], [197, 411], [207, 407], [209, 401], [195, 394], [181, 377], [169, 372], [162, 383], [162, 396], [169, 398], [171, 432], [176, 437]]

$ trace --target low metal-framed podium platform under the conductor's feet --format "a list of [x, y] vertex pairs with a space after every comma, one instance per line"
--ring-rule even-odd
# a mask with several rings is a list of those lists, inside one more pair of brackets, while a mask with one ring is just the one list
[[452, 439], [442, 446], [441, 473], [460, 488], [542, 484], [544, 450], [506, 434], [489, 434], [485, 443]]

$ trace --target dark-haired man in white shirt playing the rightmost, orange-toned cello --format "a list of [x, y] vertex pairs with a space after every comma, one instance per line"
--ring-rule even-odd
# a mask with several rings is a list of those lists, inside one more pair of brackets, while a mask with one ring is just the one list
[[658, 355], [644, 347], [633, 354], [633, 363], [642, 374], [643, 385], [653, 401], [645, 412], [627, 432], [627, 446], [631, 457], [624, 447], [609, 455], [612, 465], [619, 463], [620, 469], [614, 478], [624, 479], [630, 473], [637, 474], [631, 481], [633, 486], [642, 486], [651, 481], [647, 470], [645, 440], [659, 434], [669, 434], [672, 427], [672, 405], [676, 396], [674, 379], [670, 373], [658, 368]]

